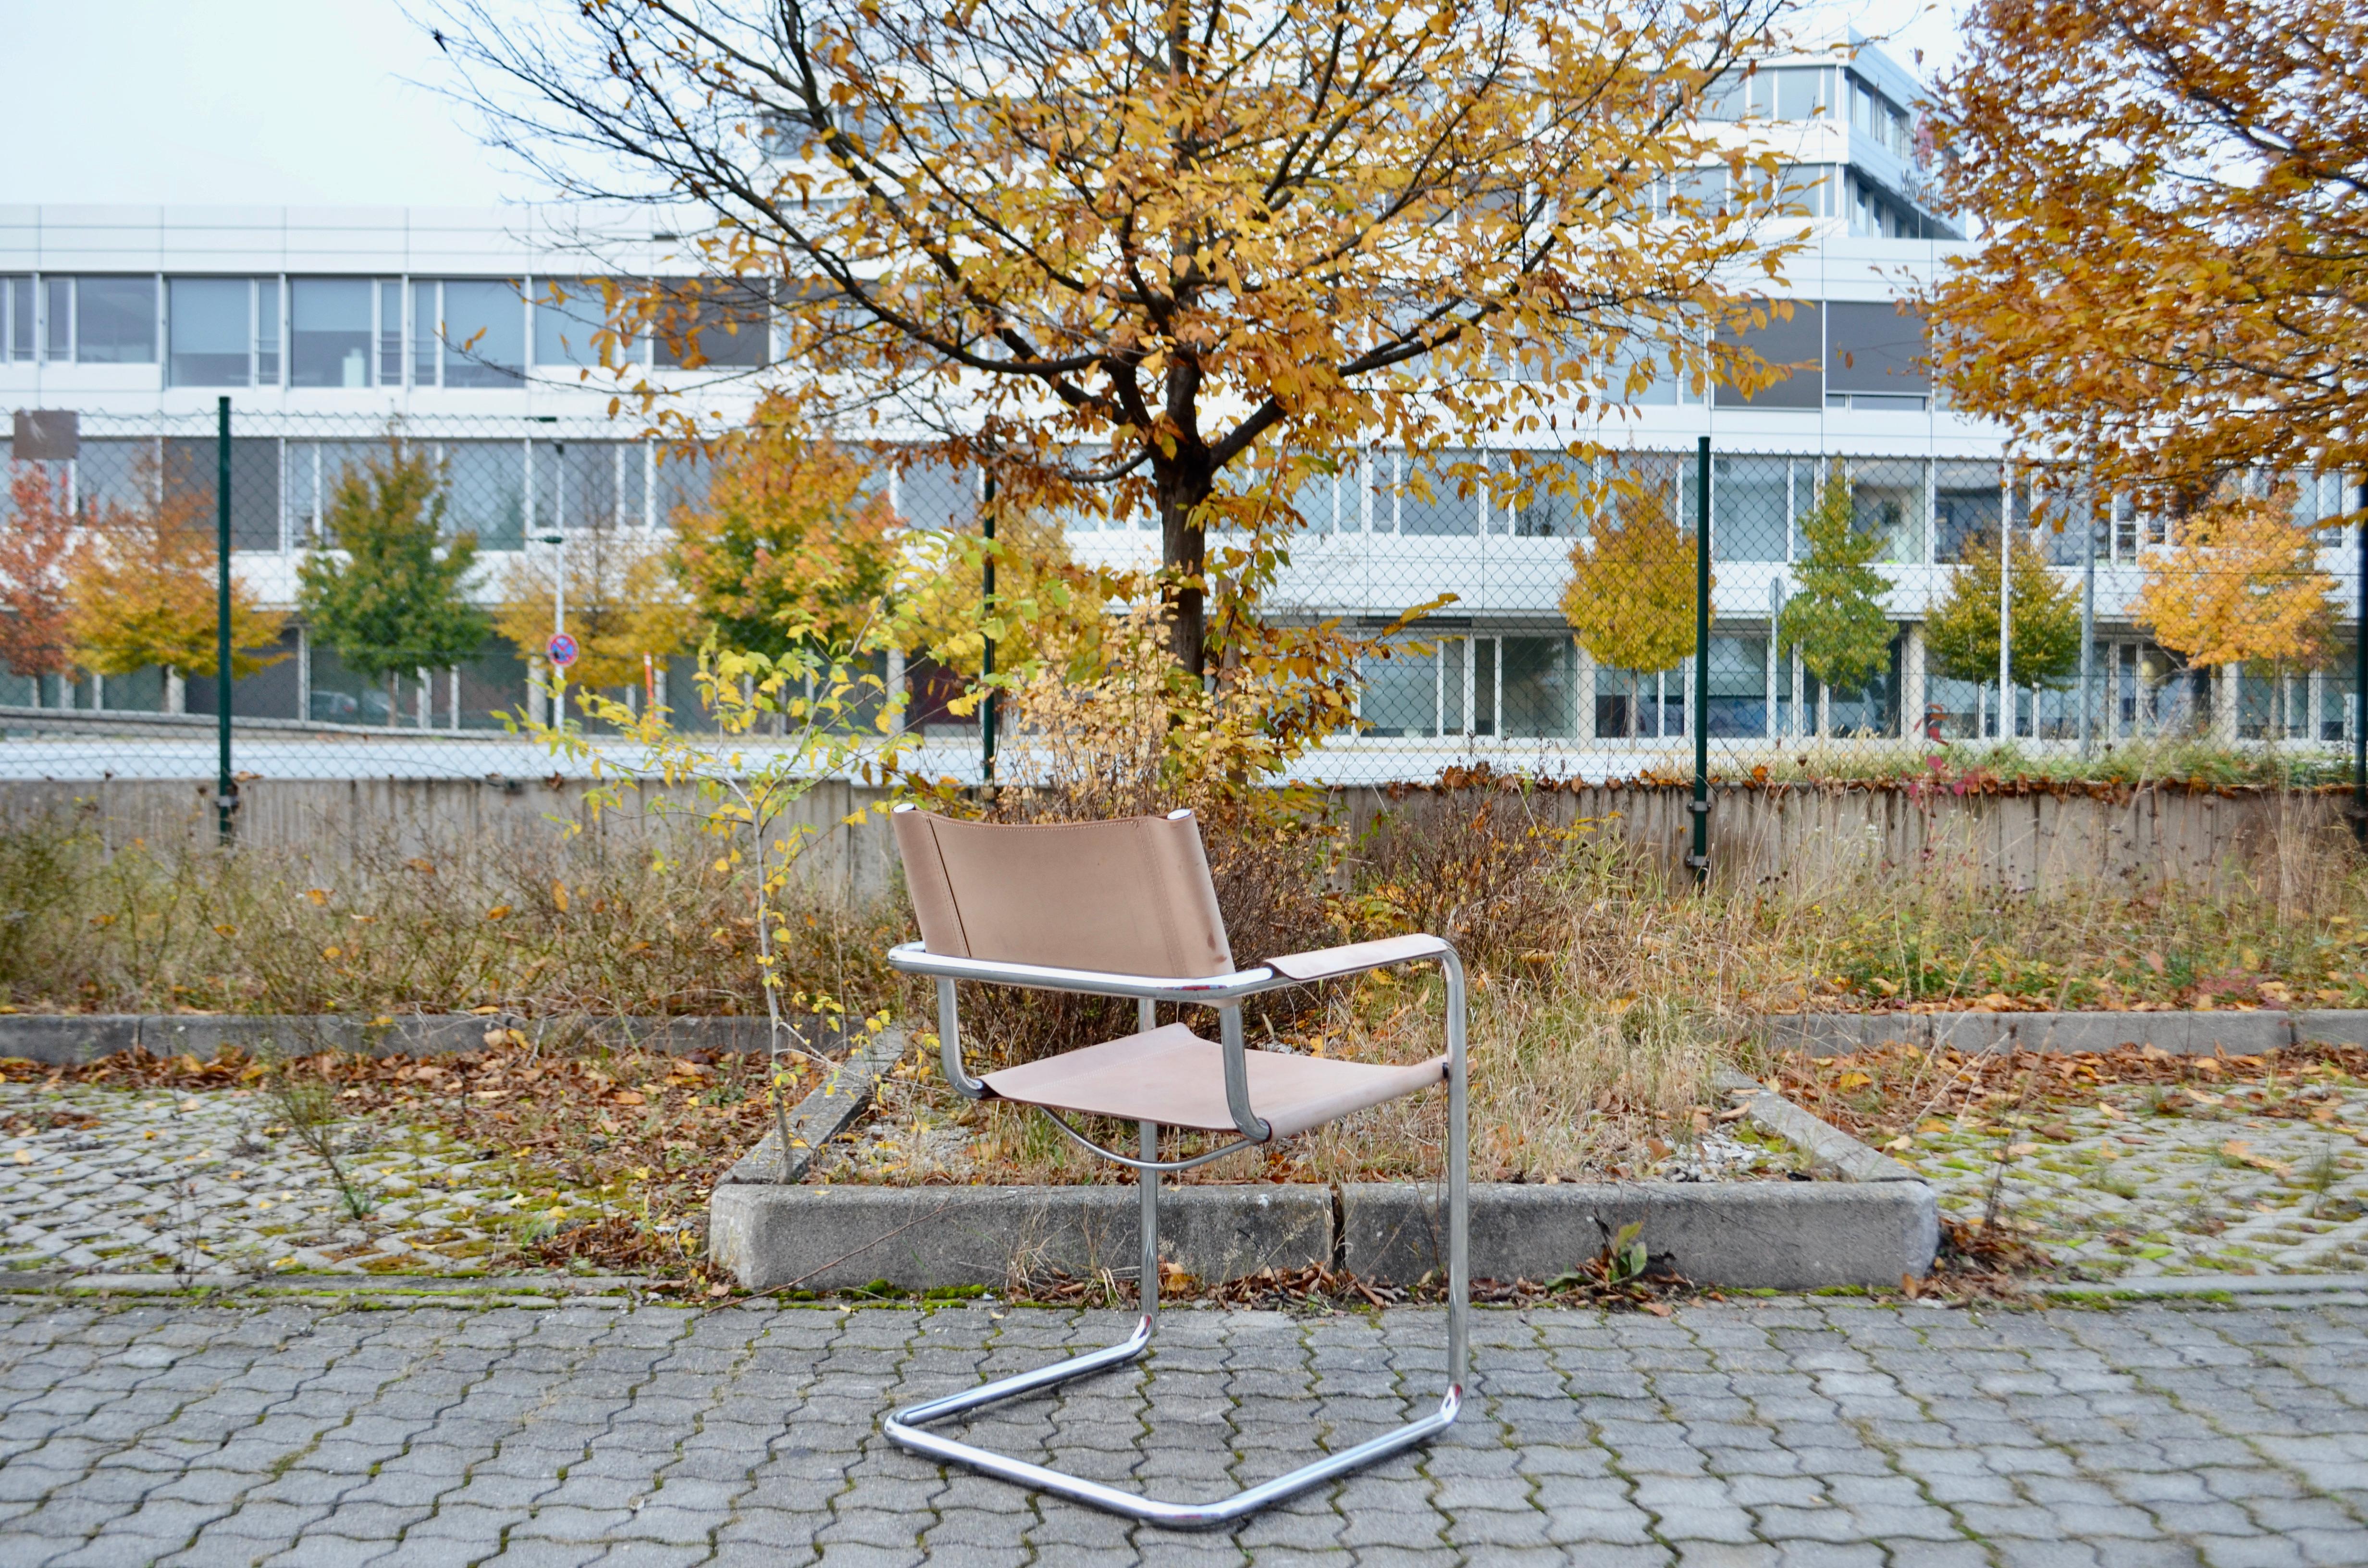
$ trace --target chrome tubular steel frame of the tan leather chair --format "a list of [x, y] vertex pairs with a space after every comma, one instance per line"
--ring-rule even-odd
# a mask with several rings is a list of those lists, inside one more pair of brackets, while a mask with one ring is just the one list
[[1418, 959], [1404, 962], [1430, 962], [1437, 959], [1447, 971], [1447, 1395], [1440, 1407], [1418, 1421], [1409, 1421], [1395, 1431], [1369, 1438], [1354, 1447], [1340, 1450], [1338, 1454], [1326, 1454], [1314, 1464], [1302, 1464], [1288, 1476], [1276, 1476], [1246, 1492], [1234, 1492], [1217, 1502], [1163, 1502], [1156, 1497], [1139, 1497], [1134, 1492], [1122, 1492], [1118, 1487], [1101, 1485], [1099, 1480], [1085, 1480], [1082, 1476], [1068, 1476], [1063, 1471], [1047, 1469], [1042, 1464], [1028, 1464], [1025, 1459], [1011, 1459], [1009, 1454], [997, 1454], [995, 1450], [973, 1447], [954, 1438], [942, 1438], [931, 1426], [940, 1421], [952, 1421], [973, 1409], [985, 1409], [987, 1405], [999, 1405], [1004, 1400], [1016, 1400], [1070, 1379], [1092, 1376], [1096, 1371], [1108, 1371], [1113, 1367], [1125, 1367], [1127, 1362], [1144, 1355], [1151, 1348], [1151, 1336], [1160, 1322], [1160, 1172], [1184, 1170], [1198, 1165], [1215, 1153], [1234, 1153], [1236, 1149], [1248, 1149], [1265, 1144], [1272, 1137], [1272, 1127], [1250, 1111], [1248, 1092], [1248, 1066], [1243, 1061], [1243, 1037], [1241, 1037], [1241, 997], [1257, 995], [1262, 990], [1276, 990], [1281, 985], [1293, 985], [1295, 981], [1274, 973], [1272, 969], [1248, 969], [1241, 973], [1222, 976], [1215, 981], [1170, 981], [1153, 976], [1115, 976], [1115, 973], [1087, 973], [1075, 969], [1040, 969], [1030, 964], [990, 964], [983, 959], [954, 959], [933, 952], [924, 952], [919, 943], [909, 943], [888, 952], [888, 962], [907, 973], [928, 973], [938, 978], [938, 1042], [945, 1066], [945, 1080], [961, 1094], [971, 1099], [985, 1097], [987, 1087], [971, 1078], [961, 1066], [961, 1035], [954, 1007], [954, 981], [987, 981], [1002, 985], [1028, 985], [1042, 990], [1082, 990], [1099, 995], [1134, 997], [1137, 1026], [1151, 1030], [1156, 1026], [1153, 1004], [1156, 1002], [1186, 1002], [1198, 1007], [1220, 1009], [1220, 1040], [1224, 1047], [1224, 1087], [1227, 1106], [1234, 1113], [1234, 1123], [1241, 1130], [1241, 1142], [1215, 1151], [1212, 1156], [1201, 1156], [1191, 1161], [1160, 1161], [1160, 1127], [1158, 1123], [1141, 1123], [1137, 1130], [1137, 1158], [1127, 1158], [1111, 1149], [1087, 1142], [1068, 1123], [1054, 1116], [1054, 1123], [1063, 1132], [1075, 1137], [1080, 1144], [1101, 1153], [1120, 1165], [1132, 1165], [1139, 1172], [1141, 1191], [1141, 1303], [1144, 1315], [1134, 1324], [1134, 1334], [1125, 1341], [1108, 1345], [1106, 1350], [1089, 1350], [1087, 1355], [1070, 1357], [1066, 1362], [1054, 1362], [1051, 1367], [1040, 1367], [1035, 1371], [1023, 1371], [1018, 1376], [997, 1379], [969, 1393], [957, 1393], [945, 1400], [928, 1400], [924, 1405], [907, 1405], [905, 1409], [888, 1416], [888, 1440], [914, 1454], [928, 1454], [945, 1464], [966, 1464], [983, 1476], [997, 1476], [1002, 1480], [1014, 1480], [1018, 1485], [1037, 1487], [1040, 1492], [1051, 1492], [1054, 1497], [1068, 1497], [1070, 1502], [1082, 1502], [1094, 1509], [1106, 1509], [1125, 1518], [1139, 1518], [1151, 1525], [1163, 1525], [1167, 1530], [1208, 1530], [1215, 1525], [1227, 1525], [1238, 1518], [1281, 1502], [1307, 1487], [1324, 1485], [1347, 1476], [1350, 1471], [1364, 1469], [1376, 1459], [1385, 1459], [1399, 1450], [1414, 1447], [1416, 1442], [1428, 1442], [1456, 1419], [1463, 1407], [1463, 1386], [1468, 1381], [1471, 1362], [1471, 1177], [1468, 1177], [1468, 1127], [1466, 1127], [1466, 1068], [1463, 1068], [1463, 962], [1452, 947], [1442, 943], [1435, 955], [1423, 955]]

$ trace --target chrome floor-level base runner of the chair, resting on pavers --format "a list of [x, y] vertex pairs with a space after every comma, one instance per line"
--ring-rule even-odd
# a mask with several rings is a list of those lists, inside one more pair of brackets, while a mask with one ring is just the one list
[[1137, 1497], [1134, 1492], [1120, 1492], [1118, 1487], [1101, 1485], [1099, 1480], [1085, 1480], [1080, 1476], [1044, 1469], [1042, 1464], [1028, 1464], [1025, 1459], [1011, 1459], [1009, 1454], [997, 1454], [995, 1450], [954, 1442], [952, 1438], [921, 1431], [933, 1421], [947, 1421], [985, 1405], [1035, 1393], [1037, 1388], [1051, 1388], [1054, 1383], [1082, 1379], [1094, 1371], [1125, 1367], [1151, 1348], [1151, 1324], [1153, 1319], [1146, 1312], [1141, 1322], [1137, 1322], [1134, 1334], [1106, 1350], [1089, 1350], [1066, 1362], [1054, 1362], [1051, 1367], [1037, 1367], [1035, 1371], [983, 1383], [971, 1393], [957, 1393], [926, 1405], [907, 1405], [888, 1416], [888, 1440], [902, 1450], [912, 1450], [914, 1454], [928, 1454], [931, 1459], [940, 1459], [945, 1464], [966, 1464], [985, 1476], [1016, 1480], [1018, 1485], [1068, 1497], [1070, 1502], [1106, 1509], [1125, 1518], [1139, 1518], [1146, 1525], [1160, 1525], [1165, 1530], [1208, 1530], [1215, 1525], [1229, 1525], [1236, 1518], [1248, 1518], [1250, 1514], [1257, 1514], [1260, 1509], [1295, 1492], [1324, 1485], [1336, 1476], [1347, 1476], [1350, 1471], [1373, 1464], [1376, 1459], [1385, 1459], [1404, 1447], [1426, 1442], [1447, 1431], [1463, 1405], [1463, 1388], [1449, 1386], [1447, 1397], [1440, 1400], [1440, 1409], [1435, 1414], [1428, 1414], [1421, 1421], [1409, 1421], [1407, 1426], [1388, 1431], [1378, 1438], [1369, 1438], [1357, 1447], [1317, 1459], [1314, 1464], [1302, 1464], [1288, 1476], [1276, 1476], [1274, 1480], [1260, 1483], [1246, 1492], [1234, 1492], [1231, 1497], [1222, 1497], [1217, 1502], [1160, 1502], [1158, 1497]]

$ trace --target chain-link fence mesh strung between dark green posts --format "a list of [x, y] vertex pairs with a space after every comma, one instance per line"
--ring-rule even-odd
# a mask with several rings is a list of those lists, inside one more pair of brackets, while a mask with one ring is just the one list
[[[19, 419], [14, 436], [14, 550], [0, 578], [24, 635], [0, 668], [0, 777], [215, 779], [220, 682], [135, 663], [123, 651], [135, 640], [92, 630], [95, 616], [137, 621], [142, 595], [213, 613], [215, 415], [43, 415]], [[355, 668], [298, 611], [303, 561], [336, 545], [339, 483], [391, 436], [433, 464], [445, 531], [474, 533], [471, 597], [493, 613], [474, 651], [433, 668]], [[1395, 656], [1362, 670], [1357, 734], [1307, 756], [1300, 777], [1397, 784], [1478, 765], [1667, 784], [1698, 770], [1710, 782], [1897, 775], [1932, 741], [1999, 739], [2029, 756], [2160, 739], [2278, 746], [2323, 777], [2356, 756], [2361, 545], [2340, 521], [2359, 507], [2356, 478], [2235, 483], [2309, 535], [2302, 557], [2280, 561], [2271, 535], [2193, 550], [2179, 523], [2131, 497], [1996, 460], [1738, 450], [1722, 438], [1707, 455], [1641, 445], [1527, 495], [1518, 464], [1513, 452], [1376, 450], [1295, 497], [1305, 531], [1269, 616], [1381, 628], [1452, 595]], [[232, 573], [256, 613], [242, 625], [268, 630], [242, 649], [253, 668], [227, 692], [234, 775], [538, 779], [561, 763], [511, 725], [549, 713], [547, 635], [583, 640], [587, 616], [663, 592], [654, 564], [677, 514], [706, 502], [708, 464], [601, 419], [388, 426], [384, 415], [234, 410], [227, 483]], [[874, 486], [909, 528], [976, 526], [976, 474], [879, 462]], [[40, 507], [73, 533], [47, 566], [31, 547]], [[154, 568], [121, 571], [109, 599], [73, 550], [137, 533], [142, 519], [194, 531], [204, 547], [149, 540]], [[1061, 538], [1082, 566], [1158, 561], [1158, 531], [1141, 516], [1068, 519]], [[71, 635], [47, 644], [31, 635], [43, 595], [83, 606]], [[2292, 621], [2297, 651], [2202, 663], [2157, 630], [2155, 609], [2171, 599], [2198, 606], [2190, 621], [2219, 616], [2238, 640]], [[980, 720], [954, 711], [976, 670], [919, 654], [886, 666], [909, 694], [919, 763], [980, 777]], [[701, 727], [694, 670], [682, 640], [654, 637], [623, 670], [611, 658], [606, 677], [623, 701]], [[1011, 779], [1025, 737], [1002, 746]]]

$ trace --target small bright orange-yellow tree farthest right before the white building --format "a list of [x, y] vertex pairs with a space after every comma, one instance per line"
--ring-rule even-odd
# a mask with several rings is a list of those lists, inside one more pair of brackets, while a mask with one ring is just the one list
[[2287, 486], [2190, 514], [2179, 542], [2148, 557], [2131, 621], [2198, 666], [2259, 661], [2283, 673], [2325, 658], [2335, 578], [2318, 568], [2318, 545], [2292, 507]]

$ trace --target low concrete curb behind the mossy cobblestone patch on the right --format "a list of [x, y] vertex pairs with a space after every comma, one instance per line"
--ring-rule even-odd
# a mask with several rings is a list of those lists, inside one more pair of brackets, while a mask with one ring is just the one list
[[2162, 1014], [1771, 1014], [1767, 1042], [1812, 1056], [1885, 1045], [1958, 1052], [2110, 1052], [2153, 1045], [2174, 1056], [2257, 1056], [2290, 1045], [2368, 1045], [2368, 1009]]

